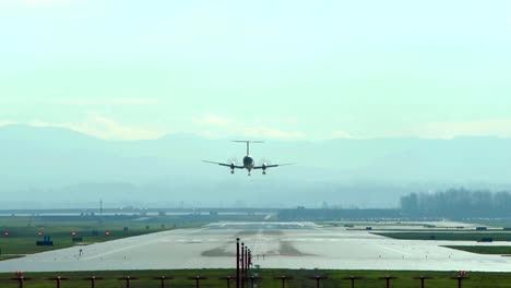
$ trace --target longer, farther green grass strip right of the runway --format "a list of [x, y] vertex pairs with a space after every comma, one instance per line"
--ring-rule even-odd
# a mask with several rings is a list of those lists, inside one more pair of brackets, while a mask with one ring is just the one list
[[511, 241], [511, 232], [376, 232], [393, 239], [403, 240], [452, 240], [452, 241], [480, 241], [491, 238], [494, 241]]

